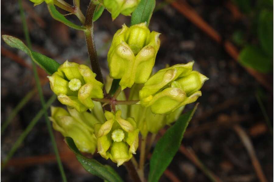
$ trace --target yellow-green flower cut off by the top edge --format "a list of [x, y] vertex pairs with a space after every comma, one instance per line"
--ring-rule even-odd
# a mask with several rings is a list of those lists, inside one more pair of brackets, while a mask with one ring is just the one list
[[137, 7], [141, 0], [99, 0], [104, 7], [111, 13], [112, 20], [116, 19], [121, 13], [129, 16]]

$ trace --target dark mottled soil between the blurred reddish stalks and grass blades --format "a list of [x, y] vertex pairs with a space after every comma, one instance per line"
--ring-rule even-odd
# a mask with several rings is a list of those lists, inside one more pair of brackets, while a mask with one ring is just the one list
[[[26, 18], [35, 51], [60, 63], [67, 59], [79, 63], [89, 62], [83, 32], [70, 29], [53, 20], [45, 3], [33, 8], [31, 2], [24, 2], [29, 7], [26, 9]], [[248, 20], [243, 18], [235, 21], [231, 12], [226, 8], [225, 2], [191, 0], [189, 4], [223, 38], [231, 40], [231, 35], [235, 30], [248, 26]], [[86, 8], [87, 3], [88, 1], [83, 2], [82, 9]], [[2, 1], [1, 10], [1, 35], [13, 35], [24, 41], [17, 1]], [[65, 14], [65, 12], [62, 13]], [[74, 16], [70, 15], [68, 19], [77, 23]], [[106, 58], [111, 37], [123, 23], [129, 25], [129, 22], [130, 17], [123, 15], [112, 22], [111, 15], [107, 11], [104, 11], [100, 19], [95, 22], [95, 42], [104, 76], [108, 73]], [[264, 174], [269, 181], [273, 181], [273, 135], [270, 131], [272, 126], [269, 128], [265, 122], [255, 96], [261, 93], [261, 99], [272, 125], [273, 92], [264, 89], [225, 52], [223, 46], [214, 42], [172, 6], [166, 5], [153, 14], [150, 29], [161, 33], [161, 47], [157, 54], [155, 71], [166, 64], [174, 65], [195, 60], [194, 70], [209, 77], [201, 90], [202, 97], [198, 99], [200, 104], [188, 126], [183, 145], [191, 147], [199, 160], [223, 181], [258, 181], [251, 158], [233, 128], [235, 122], [238, 122], [248, 133]], [[1, 52], [2, 48], [8, 49], [31, 64], [30, 58], [22, 51], [11, 49], [1, 40]], [[35, 87], [35, 82], [30, 69], [3, 54], [1, 54], [1, 59], [2, 124], [20, 99]], [[273, 85], [272, 80], [269, 82]], [[44, 86], [45, 99], [49, 99], [51, 95], [49, 84], [46, 84]], [[54, 105], [59, 106], [60, 104], [56, 101]], [[185, 111], [192, 107], [193, 104], [188, 105]], [[36, 95], [12, 120], [1, 138], [1, 161], [5, 159], [20, 133], [40, 109], [39, 97]], [[209, 127], [205, 127], [206, 125]], [[57, 140], [59, 150], [67, 150], [60, 147], [64, 145], [62, 137], [58, 133], [56, 137], [60, 139]], [[48, 154], [54, 154], [54, 152], [45, 120], [41, 118], [12, 159]], [[114, 163], [98, 155], [94, 158], [102, 163], [115, 166]], [[66, 162], [64, 167], [68, 181], [101, 181], [83, 172], [77, 163], [73, 167]], [[129, 181], [123, 166], [115, 169], [125, 180]], [[149, 169], [148, 161], [146, 169]], [[175, 155], [168, 169], [181, 181], [210, 181], [194, 163], [180, 152]], [[56, 162], [20, 167], [10, 165], [2, 170], [1, 177], [1, 181], [61, 181]], [[170, 179], [163, 175], [161, 181], [170, 181]]]

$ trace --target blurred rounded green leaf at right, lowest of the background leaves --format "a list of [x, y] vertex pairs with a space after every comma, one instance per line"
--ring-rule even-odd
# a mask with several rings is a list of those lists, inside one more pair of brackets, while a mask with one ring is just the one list
[[239, 63], [259, 72], [267, 73], [273, 68], [272, 58], [267, 57], [257, 46], [247, 45], [239, 54]]

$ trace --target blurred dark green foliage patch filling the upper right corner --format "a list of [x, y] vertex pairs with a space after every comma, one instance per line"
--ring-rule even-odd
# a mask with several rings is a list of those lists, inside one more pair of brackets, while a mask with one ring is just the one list
[[273, 69], [273, 0], [234, 0], [248, 19], [245, 29], [236, 30], [232, 39], [241, 47], [239, 62], [259, 72]]

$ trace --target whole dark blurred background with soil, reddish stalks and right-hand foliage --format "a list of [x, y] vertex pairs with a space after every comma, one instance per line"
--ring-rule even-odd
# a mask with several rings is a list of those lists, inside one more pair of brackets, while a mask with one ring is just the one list
[[[84, 14], [88, 3], [81, 1]], [[34, 51], [59, 63], [68, 59], [89, 65], [83, 32], [52, 19], [45, 3], [33, 7], [23, 0], [23, 8]], [[25, 42], [18, 2], [1, 1], [1, 15], [1, 35]], [[73, 15], [66, 18], [79, 24]], [[112, 22], [106, 10], [95, 22], [104, 76], [112, 36], [123, 23], [129, 25], [130, 17], [119, 15]], [[157, 0], [149, 27], [161, 33], [154, 71], [194, 60], [193, 69], [209, 77], [181, 147], [160, 181], [273, 181], [273, 1]], [[53, 93], [47, 74], [38, 72], [48, 100]], [[41, 110], [35, 88], [31, 59], [1, 40], [1, 163]], [[61, 106], [58, 101], [53, 105]], [[30, 129], [1, 169], [1, 181], [61, 181], [44, 117]], [[80, 166], [60, 133], [54, 135], [68, 181], [102, 181]], [[89, 157], [115, 166], [97, 153]], [[123, 166], [115, 170], [130, 180]]]

